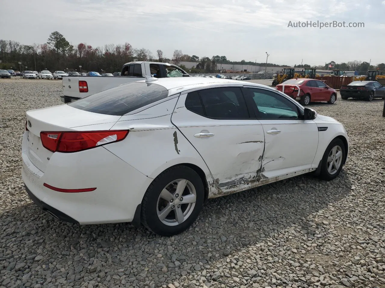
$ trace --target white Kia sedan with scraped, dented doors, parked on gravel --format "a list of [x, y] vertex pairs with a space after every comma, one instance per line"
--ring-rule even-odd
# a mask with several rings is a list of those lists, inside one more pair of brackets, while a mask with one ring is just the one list
[[22, 177], [61, 220], [170, 236], [204, 202], [313, 172], [338, 176], [345, 127], [268, 86], [150, 78], [27, 111]]

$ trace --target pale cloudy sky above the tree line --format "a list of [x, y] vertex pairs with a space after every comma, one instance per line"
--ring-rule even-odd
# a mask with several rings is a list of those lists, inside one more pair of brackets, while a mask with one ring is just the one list
[[[323, 65], [385, 62], [385, 0], [0, 0], [0, 38], [77, 45], [129, 42], [167, 57], [175, 49], [233, 61]], [[364, 22], [364, 28], [295, 28], [289, 22]]]

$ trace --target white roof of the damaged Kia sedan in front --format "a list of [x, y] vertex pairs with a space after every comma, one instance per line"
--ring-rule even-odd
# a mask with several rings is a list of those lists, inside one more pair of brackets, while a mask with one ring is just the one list
[[[138, 82], [146, 82], [145, 80]], [[163, 86], [169, 90], [169, 95], [174, 93], [181, 93], [183, 91], [198, 89], [198, 88], [209, 88], [211, 86], [225, 85], [225, 86], [255, 86], [261, 88], [268, 88], [275, 90], [269, 86], [252, 83], [252, 82], [240, 82], [237, 80], [231, 79], [221, 79], [221, 78], [202, 78], [202, 77], [170, 77], [170, 78], [159, 78], [157, 80], [151, 81], [149, 83], [154, 83]]]

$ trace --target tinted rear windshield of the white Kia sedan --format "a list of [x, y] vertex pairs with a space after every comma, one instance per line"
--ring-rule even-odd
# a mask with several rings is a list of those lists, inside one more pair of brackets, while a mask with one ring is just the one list
[[68, 105], [89, 112], [122, 116], [167, 96], [168, 90], [163, 86], [132, 82], [92, 94]]

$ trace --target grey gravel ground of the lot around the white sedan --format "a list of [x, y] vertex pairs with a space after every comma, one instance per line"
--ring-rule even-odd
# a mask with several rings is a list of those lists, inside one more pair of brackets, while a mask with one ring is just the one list
[[1, 287], [385, 287], [382, 100], [311, 105], [350, 136], [335, 180], [209, 200], [187, 232], [162, 238], [129, 223], [58, 222], [28, 199], [24, 113], [60, 94], [61, 81], [0, 79]]

